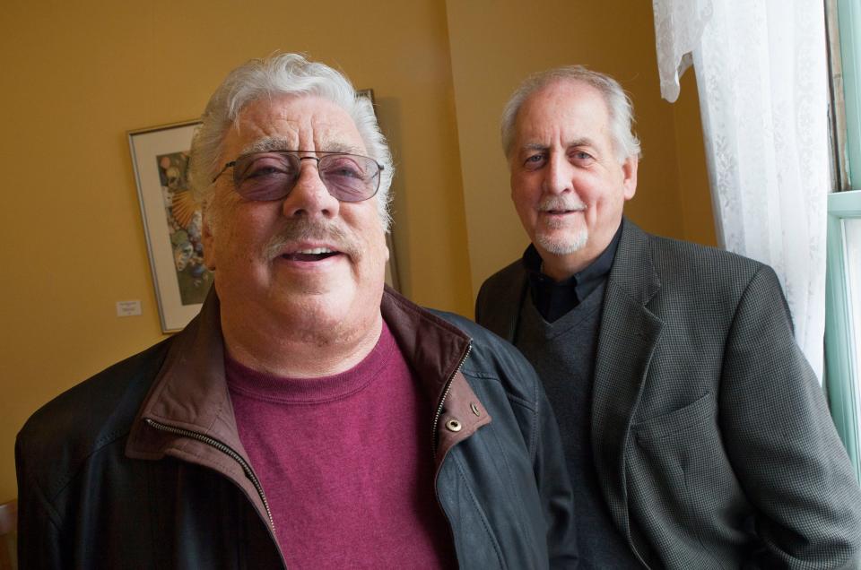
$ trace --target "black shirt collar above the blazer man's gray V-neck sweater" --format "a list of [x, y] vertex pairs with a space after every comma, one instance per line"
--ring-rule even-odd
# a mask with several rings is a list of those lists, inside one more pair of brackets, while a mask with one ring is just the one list
[[526, 274], [529, 276], [532, 302], [545, 321], [552, 323], [561, 315], [565, 315], [607, 280], [621, 236], [622, 224], [620, 223], [619, 229], [616, 230], [616, 234], [604, 252], [598, 255], [594, 262], [589, 263], [583, 271], [574, 273], [564, 281], [553, 281], [544, 275], [541, 272], [542, 260], [541, 255], [538, 255], [538, 250], [533, 245], [526, 247], [523, 254], [523, 264], [526, 267]]

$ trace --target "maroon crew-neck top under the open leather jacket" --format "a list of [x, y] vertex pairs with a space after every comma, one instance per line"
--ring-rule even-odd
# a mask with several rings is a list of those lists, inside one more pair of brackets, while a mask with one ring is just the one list
[[287, 566], [455, 566], [433, 488], [431, 402], [385, 323], [342, 374], [280, 378], [230, 358], [226, 372]]

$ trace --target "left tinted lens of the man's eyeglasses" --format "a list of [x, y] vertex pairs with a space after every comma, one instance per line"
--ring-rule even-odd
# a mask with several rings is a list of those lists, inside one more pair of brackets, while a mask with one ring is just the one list
[[236, 190], [247, 200], [281, 200], [299, 178], [300, 160], [287, 152], [257, 152], [239, 157], [233, 167]]

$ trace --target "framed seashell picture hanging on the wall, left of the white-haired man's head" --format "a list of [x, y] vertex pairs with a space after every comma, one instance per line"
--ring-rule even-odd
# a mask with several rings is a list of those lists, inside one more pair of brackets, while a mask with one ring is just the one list
[[213, 284], [213, 274], [204, 265], [200, 209], [187, 178], [188, 151], [198, 124], [188, 121], [128, 134], [163, 332], [186, 326]]

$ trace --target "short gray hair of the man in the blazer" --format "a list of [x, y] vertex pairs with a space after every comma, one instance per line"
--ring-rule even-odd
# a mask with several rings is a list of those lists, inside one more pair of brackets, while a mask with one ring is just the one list
[[524, 101], [530, 95], [553, 82], [582, 82], [594, 87], [604, 96], [607, 110], [610, 114], [610, 132], [613, 135], [613, 150], [619, 162], [624, 162], [631, 156], [640, 157], [639, 139], [633, 132], [634, 107], [631, 98], [622, 90], [613, 77], [604, 73], [588, 70], [583, 65], [565, 65], [535, 73], [520, 83], [511, 95], [502, 111], [500, 132], [502, 135], [502, 150], [506, 157], [511, 157], [514, 151], [514, 129], [517, 113]]

